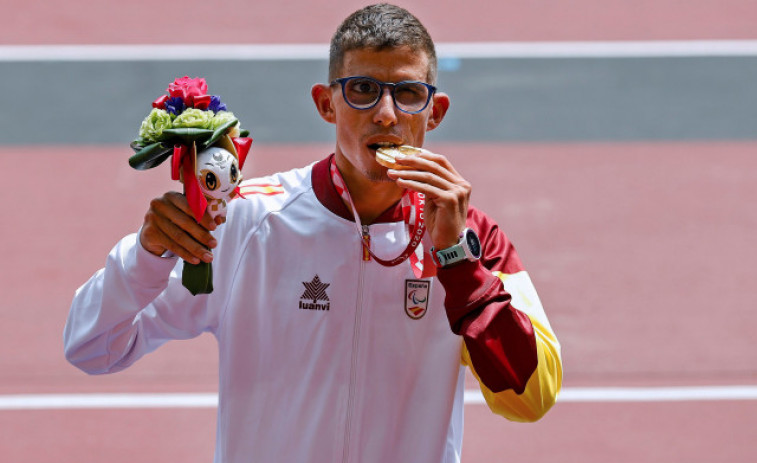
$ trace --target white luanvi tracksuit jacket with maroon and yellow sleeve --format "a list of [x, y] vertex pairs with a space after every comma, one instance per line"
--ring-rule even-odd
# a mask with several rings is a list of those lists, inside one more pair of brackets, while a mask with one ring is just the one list
[[[130, 235], [76, 292], [69, 361], [111, 373], [168, 340], [212, 332], [216, 463], [458, 462], [466, 365], [509, 419], [538, 419], [554, 403], [559, 344], [515, 250], [481, 212], [468, 218], [481, 261], [419, 282], [407, 262], [363, 259], [328, 159], [242, 191], [214, 232], [211, 294], [192, 296], [178, 259]], [[369, 230], [379, 256], [406, 246], [398, 210]]]

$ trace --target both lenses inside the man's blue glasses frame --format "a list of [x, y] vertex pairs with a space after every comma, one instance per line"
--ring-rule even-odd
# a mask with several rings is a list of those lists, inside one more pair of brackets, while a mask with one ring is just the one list
[[[428, 101], [429, 89], [420, 82], [400, 82], [392, 90], [397, 106], [405, 111], [419, 111]], [[359, 108], [372, 106], [381, 98], [381, 93], [381, 84], [372, 79], [358, 77], [344, 83], [347, 101]]]

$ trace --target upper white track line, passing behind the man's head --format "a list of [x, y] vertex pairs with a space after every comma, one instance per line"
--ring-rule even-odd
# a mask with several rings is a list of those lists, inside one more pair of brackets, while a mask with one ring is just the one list
[[[757, 56], [757, 40], [439, 43], [440, 58]], [[0, 45], [0, 62], [324, 60], [326, 44]]]

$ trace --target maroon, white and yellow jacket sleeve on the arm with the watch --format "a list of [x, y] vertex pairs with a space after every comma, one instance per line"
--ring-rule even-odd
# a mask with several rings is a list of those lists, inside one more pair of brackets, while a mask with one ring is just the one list
[[504, 233], [475, 208], [468, 226], [481, 239], [481, 259], [437, 273], [450, 326], [464, 341], [462, 362], [494, 413], [536, 421], [555, 403], [562, 384], [560, 344]]

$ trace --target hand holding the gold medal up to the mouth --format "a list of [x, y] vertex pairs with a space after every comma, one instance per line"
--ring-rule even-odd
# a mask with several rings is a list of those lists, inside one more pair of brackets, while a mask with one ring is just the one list
[[426, 195], [424, 218], [436, 249], [457, 244], [465, 229], [471, 185], [441, 154], [423, 150], [417, 156], [397, 159], [407, 170], [387, 172], [402, 188]]

